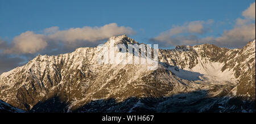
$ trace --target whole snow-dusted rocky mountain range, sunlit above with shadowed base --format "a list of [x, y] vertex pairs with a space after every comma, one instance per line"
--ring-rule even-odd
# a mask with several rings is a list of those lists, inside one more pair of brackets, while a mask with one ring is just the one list
[[[139, 44], [125, 35], [110, 40]], [[159, 49], [156, 70], [147, 64], [98, 64], [110, 40], [102, 47], [38, 55], [3, 73], [0, 99], [28, 112], [255, 112], [255, 106], [241, 108], [245, 102], [255, 105], [255, 40], [242, 49]]]

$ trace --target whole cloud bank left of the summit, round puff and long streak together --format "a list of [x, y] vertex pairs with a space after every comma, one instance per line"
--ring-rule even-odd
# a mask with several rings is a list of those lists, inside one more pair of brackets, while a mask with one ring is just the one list
[[9, 54], [48, 53], [48, 50], [53, 49], [70, 52], [78, 47], [100, 44], [100, 41], [112, 36], [132, 35], [134, 33], [135, 31], [130, 27], [118, 27], [116, 23], [106, 24], [102, 27], [70, 28], [63, 31], [60, 31], [59, 27], [50, 27], [44, 29], [42, 34], [27, 31], [16, 36], [11, 47], [4, 51]]

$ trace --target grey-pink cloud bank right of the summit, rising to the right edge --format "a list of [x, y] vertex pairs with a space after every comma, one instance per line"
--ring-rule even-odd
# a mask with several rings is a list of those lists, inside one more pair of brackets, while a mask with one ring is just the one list
[[[162, 45], [196, 45], [196, 44], [216, 44], [230, 48], [242, 47], [248, 41], [255, 39], [255, 2], [251, 3], [250, 7], [242, 12], [243, 18], [237, 18], [234, 28], [229, 31], [224, 31], [220, 37], [205, 37], [199, 38], [196, 35], [201, 35], [207, 31], [205, 25], [213, 23], [213, 20], [194, 21], [185, 23], [182, 26], [176, 26], [169, 31], [160, 33], [155, 37], [154, 41], [158, 41]], [[188, 36], [179, 36], [181, 33], [188, 33]]]

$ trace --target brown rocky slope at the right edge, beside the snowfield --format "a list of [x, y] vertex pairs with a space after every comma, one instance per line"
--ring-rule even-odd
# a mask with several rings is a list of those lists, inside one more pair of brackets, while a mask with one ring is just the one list
[[233, 60], [227, 63], [234, 67], [234, 75], [238, 78], [238, 85], [231, 95], [255, 100], [255, 40], [249, 42], [238, 54], [236, 62]]

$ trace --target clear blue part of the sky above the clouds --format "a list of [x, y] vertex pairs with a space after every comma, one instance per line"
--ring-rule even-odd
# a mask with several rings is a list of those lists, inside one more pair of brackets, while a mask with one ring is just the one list
[[[220, 35], [233, 27], [251, 0], [225, 1], [0, 1], [0, 37], [11, 41], [22, 32], [40, 32], [52, 26], [101, 27], [117, 23], [133, 28], [138, 41], [166, 31], [172, 25], [213, 19], [213, 32]], [[225, 24], [222, 24], [225, 23]]]

